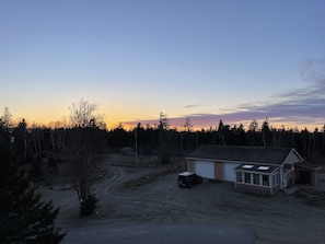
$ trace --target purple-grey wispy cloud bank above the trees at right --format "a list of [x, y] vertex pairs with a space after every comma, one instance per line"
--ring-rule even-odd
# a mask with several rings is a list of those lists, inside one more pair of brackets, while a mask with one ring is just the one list
[[[275, 94], [269, 100], [254, 104], [240, 104], [233, 111], [220, 114], [188, 114], [182, 117], [169, 118], [174, 126], [184, 125], [187, 117], [195, 127], [216, 127], [222, 119], [229, 125], [247, 125], [253, 119], [266, 119], [269, 123], [320, 126], [325, 124], [325, 59], [306, 60], [300, 71], [305, 81], [304, 89]], [[276, 101], [276, 102], [274, 102]], [[198, 107], [186, 105], [185, 108]], [[158, 123], [146, 120], [144, 124]]]

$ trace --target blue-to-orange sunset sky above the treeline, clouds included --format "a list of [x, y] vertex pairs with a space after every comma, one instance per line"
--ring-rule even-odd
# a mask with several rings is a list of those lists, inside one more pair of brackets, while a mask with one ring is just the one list
[[324, 0], [0, 0], [0, 109], [119, 123], [325, 124]]

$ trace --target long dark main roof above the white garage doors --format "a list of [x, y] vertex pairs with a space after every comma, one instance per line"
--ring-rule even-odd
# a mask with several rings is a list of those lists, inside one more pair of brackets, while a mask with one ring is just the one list
[[291, 148], [202, 144], [193, 151], [188, 158], [282, 164], [291, 150]]

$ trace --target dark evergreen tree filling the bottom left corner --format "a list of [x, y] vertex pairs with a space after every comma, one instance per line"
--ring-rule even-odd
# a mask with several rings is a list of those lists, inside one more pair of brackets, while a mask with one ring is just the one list
[[54, 223], [59, 209], [40, 200], [7, 143], [0, 144], [0, 243], [59, 243], [66, 235]]

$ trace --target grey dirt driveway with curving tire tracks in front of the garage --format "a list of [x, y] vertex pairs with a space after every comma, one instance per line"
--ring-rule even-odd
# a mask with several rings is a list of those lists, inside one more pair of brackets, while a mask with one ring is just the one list
[[224, 223], [253, 228], [257, 233], [256, 243], [325, 243], [325, 206], [307, 205], [304, 196], [236, 193], [233, 184], [213, 181], [205, 181], [190, 189], [178, 188], [177, 173], [160, 174], [165, 172], [163, 167], [126, 167], [111, 163], [104, 167], [112, 174], [95, 185], [101, 199], [97, 214], [78, 218], [77, 194], [72, 189], [42, 190], [45, 199], [53, 199], [60, 206], [60, 225], [114, 224], [115, 221]]

